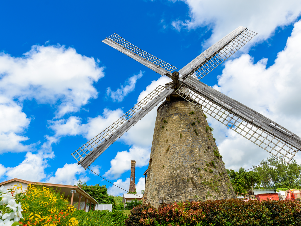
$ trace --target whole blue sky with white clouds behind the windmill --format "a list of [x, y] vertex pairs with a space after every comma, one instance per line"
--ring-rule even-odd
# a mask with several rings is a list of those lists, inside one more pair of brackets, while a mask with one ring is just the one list
[[[238, 4], [239, 3], [239, 4]], [[0, 25], [0, 181], [106, 185], [71, 153], [113, 123], [166, 77], [101, 41], [117, 33], [178, 67], [238, 26], [258, 33], [202, 79], [301, 135], [301, 3], [253, 1], [2, 2]], [[91, 166], [128, 189], [136, 160], [144, 189], [156, 109]], [[249, 168], [268, 152], [209, 118], [226, 168]], [[299, 153], [295, 159], [300, 164]]]

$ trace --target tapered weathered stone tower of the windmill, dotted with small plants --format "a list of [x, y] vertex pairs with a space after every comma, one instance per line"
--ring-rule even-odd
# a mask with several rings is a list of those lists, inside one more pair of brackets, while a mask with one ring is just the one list
[[195, 189], [226, 176], [203, 111], [185, 101], [161, 106], [155, 124], [145, 201], [159, 202], [190, 190], [170, 200], [235, 198], [229, 179]]

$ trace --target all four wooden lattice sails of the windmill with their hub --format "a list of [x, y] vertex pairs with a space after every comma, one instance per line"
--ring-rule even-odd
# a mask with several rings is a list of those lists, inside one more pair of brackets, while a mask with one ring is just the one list
[[135, 59], [160, 75], [172, 78], [172, 84], [158, 86], [116, 122], [72, 153], [78, 164], [88, 168], [113, 142], [121, 137], [151, 109], [173, 93], [182, 97], [228, 128], [239, 133], [284, 162], [290, 162], [301, 149], [301, 138], [251, 108], [200, 82], [218, 65], [249, 42], [257, 33], [238, 27], [194, 58], [178, 73], [177, 67], [143, 51], [114, 33], [102, 42]]

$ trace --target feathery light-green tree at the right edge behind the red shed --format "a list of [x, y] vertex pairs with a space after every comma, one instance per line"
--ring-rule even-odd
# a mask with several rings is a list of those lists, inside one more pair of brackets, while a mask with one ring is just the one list
[[260, 174], [261, 184], [263, 187], [275, 186], [282, 187], [295, 187], [301, 183], [301, 165], [292, 159], [290, 163], [285, 163], [280, 159], [274, 159], [270, 156], [267, 161], [262, 160], [260, 163], [267, 162], [256, 169], [255, 172]]

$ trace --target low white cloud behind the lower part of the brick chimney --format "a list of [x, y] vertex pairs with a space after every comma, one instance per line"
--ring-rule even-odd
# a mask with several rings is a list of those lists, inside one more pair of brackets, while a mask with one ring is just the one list
[[[123, 188], [124, 190], [112, 185], [111, 187], [108, 188], [108, 194], [113, 195], [113, 196], [123, 196], [124, 193], [128, 193], [125, 190], [129, 190], [130, 186], [130, 178], [127, 177], [125, 181], [119, 179], [113, 184], [117, 185], [118, 187]], [[144, 177], [140, 177], [138, 180], [138, 183], [136, 184], [136, 192], [138, 194], [141, 193], [141, 190], [144, 190]]]

